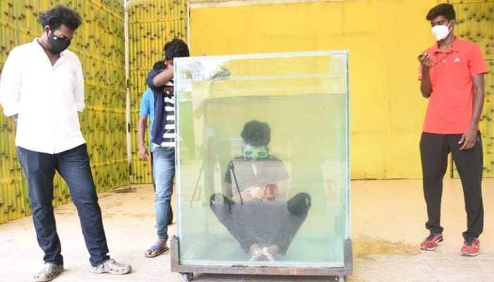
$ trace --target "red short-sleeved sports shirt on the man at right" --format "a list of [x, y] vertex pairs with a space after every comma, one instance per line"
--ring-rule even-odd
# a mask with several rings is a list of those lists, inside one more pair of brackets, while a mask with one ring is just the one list
[[[423, 132], [463, 134], [471, 125], [474, 111], [472, 76], [487, 73], [481, 49], [474, 42], [458, 37], [447, 50], [438, 43], [425, 51], [433, 59], [430, 67], [430, 93]], [[419, 79], [421, 79], [419, 70]]]

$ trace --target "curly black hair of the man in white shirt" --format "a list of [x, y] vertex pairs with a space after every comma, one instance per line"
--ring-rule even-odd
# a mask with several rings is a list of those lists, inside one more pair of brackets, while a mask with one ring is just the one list
[[80, 25], [79, 14], [63, 5], [40, 13], [39, 20], [42, 27], [48, 25], [51, 30], [57, 30], [61, 25], [66, 25], [71, 30], [77, 30]]

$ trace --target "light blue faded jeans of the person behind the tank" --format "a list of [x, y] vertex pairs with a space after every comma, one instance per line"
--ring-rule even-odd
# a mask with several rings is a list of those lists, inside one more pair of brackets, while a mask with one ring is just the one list
[[175, 176], [175, 148], [157, 147], [152, 153], [156, 195], [156, 229], [159, 240], [168, 240], [170, 200]]

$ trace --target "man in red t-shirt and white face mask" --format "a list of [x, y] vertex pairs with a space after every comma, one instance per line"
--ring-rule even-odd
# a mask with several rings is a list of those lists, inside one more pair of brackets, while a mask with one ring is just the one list
[[451, 152], [462, 179], [468, 229], [463, 233], [462, 255], [476, 256], [483, 229], [483, 153], [478, 121], [483, 108], [483, 75], [486, 62], [480, 48], [453, 33], [456, 24], [451, 4], [439, 4], [427, 15], [438, 42], [418, 56], [421, 92], [428, 98], [420, 141], [423, 193], [426, 198], [430, 235], [422, 250], [435, 250], [442, 243], [440, 226], [442, 178]]

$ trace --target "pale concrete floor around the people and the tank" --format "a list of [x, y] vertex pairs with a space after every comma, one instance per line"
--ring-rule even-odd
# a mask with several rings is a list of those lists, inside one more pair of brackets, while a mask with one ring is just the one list
[[[421, 252], [418, 244], [427, 235], [426, 209], [420, 180], [352, 182], [352, 238], [354, 275], [351, 282], [454, 282], [494, 281], [494, 180], [483, 183], [486, 207], [481, 255], [461, 257], [462, 231], [466, 226], [463, 194], [458, 180], [445, 181], [442, 224], [445, 244], [435, 252]], [[59, 282], [181, 281], [171, 273], [169, 255], [143, 257], [155, 240], [153, 191], [138, 185], [125, 192], [100, 195], [110, 255], [133, 265], [126, 276], [91, 274], [88, 253], [80, 232], [76, 209], [67, 204], [56, 209], [66, 271]], [[176, 224], [170, 234], [176, 232]], [[32, 281], [42, 268], [30, 217], [0, 225], [0, 281]], [[194, 281], [331, 281], [328, 278], [198, 275]]]

